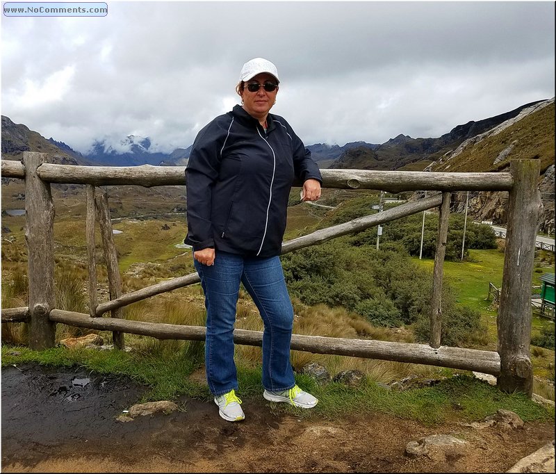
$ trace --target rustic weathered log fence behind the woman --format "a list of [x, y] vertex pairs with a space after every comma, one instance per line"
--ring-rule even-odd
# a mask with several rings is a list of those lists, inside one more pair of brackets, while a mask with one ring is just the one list
[[[185, 185], [185, 167], [151, 166], [97, 167], [55, 165], [48, 155], [25, 152], [23, 162], [1, 161], [2, 177], [25, 179], [26, 243], [28, 247], [28, 307], [2, 309], [2, 322], [28, 322], [28, 345], [33, 350], [54, 346], [56, 322], [111, 331], [116, 348], [124, 348], [124, 333], [158, 339], [202, 341], [205, 327], [124, 320], [122, 307], [147, 297], [172, 291], [199, 281], [197, 273], [177, 277], [122, 294], [117, 254], [106, 193], [98, 186], [139, 185], [145, 187]], [[530, 361], [531, 279], [534, 241], [542, 211], [537, 189], [539, 160], [512, 161], [510, 172], [455, 173], [365, 170], [321, 170], [323, 188], [373, 189], [390, 193], [436, 190], [441, 194], [400, 204], [382, 213], [357, 218], [312, 234], [289, 240], [281, 253], [323, 243], [332, 238], [362, 231], [384, 222], [404, 218], [435, 207], [440, 208], [439, 235], [434, 257], [433, 286], [428, 344], [303, 336], [293, 334], [291, 348], [320, 354], [341, 354], [432, 366], [475, 370], [498, 377], [498, 387], [507, 392], [532, 394]], [[50, 183], [85, 184], [86, 235], [89, 268], [89, 314], [62, 311], [54, 307], [54, 203]], [[301, 183], [294, 183], [301, 186]], [[441, 288], [450, 193], [460, 190], [509, 191], [505, 261], [498, 312], [498, 350], [484, 351], [441, 346]], [[97, 302], [95, 266], [95, 220], [99, 221], [107, 263], [110, 300]], [[111, 318], [101, 317], [110, 311]], [[262, 343], [262, 332], [234, 330], [234, 342]]]

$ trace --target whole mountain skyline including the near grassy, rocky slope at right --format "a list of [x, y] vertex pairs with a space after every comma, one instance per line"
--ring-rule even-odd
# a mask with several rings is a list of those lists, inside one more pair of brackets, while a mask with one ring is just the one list
[[[128, 136], [115, 149], [97, 141], [92, 152], [74, 151], [65, 142], [31, 131], [1, 117], [3, 159], [21, 160], [25, 151], [49, 153], [52, 163], [71, 165], [187, 165], [191, 146], [170, 154], [152, 153], [148, 138]], [[534, 101], [507, 113], [457, 125], [438, 138], [411, 138], [400, 134], [382, 144], [364, 141], [339, 145], [307, 146], [321, 168], [361, 170], [427, 170], [450, 172], [498, 172], [507, 170], [514, 158], [541, 161], [539, 189], [544, 211], [540, 230], [553, 234], [555, 105], [554, 98]], [[3, 180], [4, 181], [4, 180]], [[507, 193], [477, 193], [469, 199], [476, 220], [505, 222]], [[457, 193], [454, 205], [462, 211], [465, 193]], [[460, 209], [461, 208], [461, 209]]]

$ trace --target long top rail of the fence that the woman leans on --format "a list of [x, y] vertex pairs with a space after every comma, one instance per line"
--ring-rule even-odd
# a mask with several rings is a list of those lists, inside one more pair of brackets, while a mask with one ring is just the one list
[[[75, 166], [45, 163], [40, 177], [51, 183], [185, 185], [184, 166]], [[497, 190], [513, 186], [509, 173], [452, 173], [424, 171], [320, 170], [323, 188], [376, 189], [397, 193], [416, 190]], [[302, 186], [295, 181], [294, 186]]]

